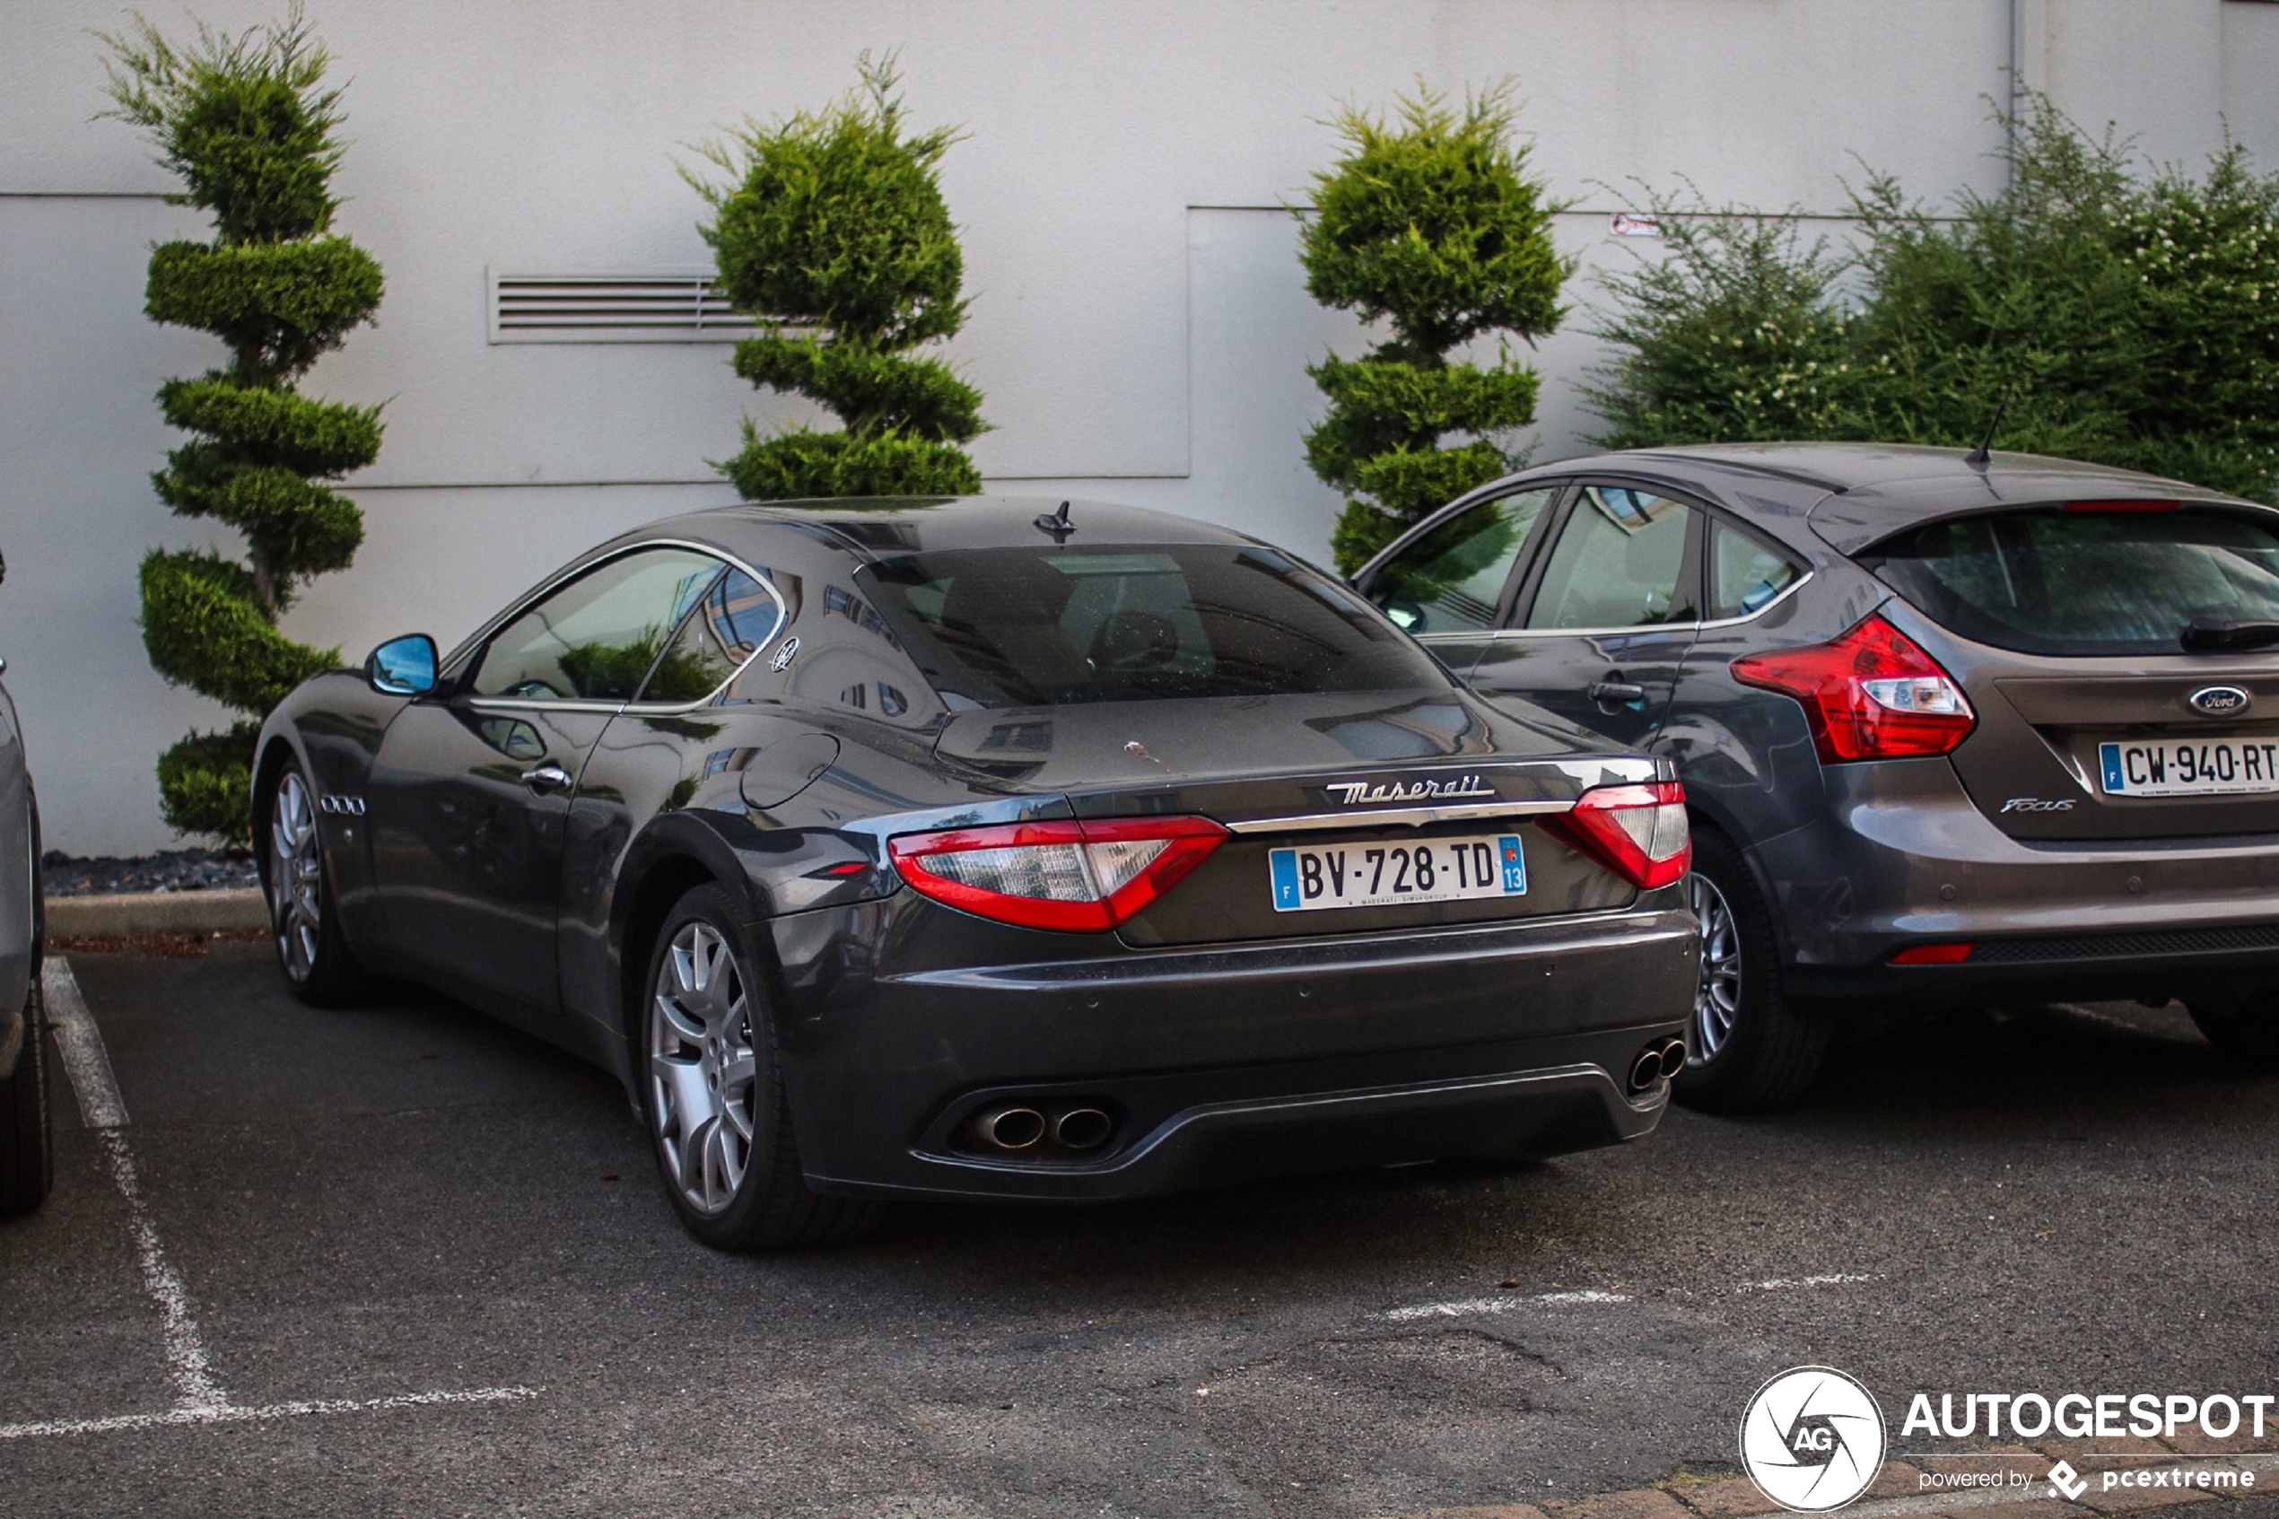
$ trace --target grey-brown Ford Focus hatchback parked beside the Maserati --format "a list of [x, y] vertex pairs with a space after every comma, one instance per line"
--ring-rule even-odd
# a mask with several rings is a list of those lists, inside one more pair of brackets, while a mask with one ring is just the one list
[[1566, 460], [1354, 576], [1493, 695], [1668, 756], [1702, 972], [1677, 1095], [1846, 1016], [2181, 997], [2279, 1057], [2279, 510], [2017, 453]]

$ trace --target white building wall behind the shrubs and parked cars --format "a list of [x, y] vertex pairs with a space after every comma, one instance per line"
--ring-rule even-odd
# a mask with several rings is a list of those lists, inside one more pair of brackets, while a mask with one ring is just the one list
[[[239, 27], [273, 5], [212, 0]], [[944, 169], [973, 314], [955, 358], [996, 430], [991, 485], [1128, 499], [1326, 556], [1335, 496], [1306, 474], [1304, 364], [1358, 326], [1304, 294], [1294, 225], [1338, 100], [1418, 77], [1518, 75], [1536, 164], [1588, 266], [1632, 180], [1839, 212], [1862, 159], [1919, 194], [1999, 182], [1990, 102], [2012, 52], [2090, 125], [2197, 162], [2224, 125], [2279, 166], [2279, 5], [2252, 0], [317, 0], [349, 82], [342, 230], [387, 269], [381, 326], [315, 394], [385, 399], [360, 474], [367, 544], [287, 631], [360, 656], [456, 640], [595, 537], [727, 501], [704, 465], [802, 408], [713, 344], [490, 344], [485, 266], [702, 266], [686, 143], [820, 105], [864, 48], [900, 48], [916, 123], [964, 123]], [[178, 27], [180, 14], [157, 20]], [[223, 713], [148, 670], [134, 565], [219, 542], [148, 474], [178, 442], [162, 378], [221, 355], [141, 317], [146, 246], [198, 237], [137, 134], [103, 109], [98, 43], [125, 11], [0, 7], [0, 656], [50, 843], [169, 843], [150, 765]], [[1857, 155], [1857, 157], [1853, 157]], [[1538, 458], [1586, 451], [1588, 276], [1547, 339]]]

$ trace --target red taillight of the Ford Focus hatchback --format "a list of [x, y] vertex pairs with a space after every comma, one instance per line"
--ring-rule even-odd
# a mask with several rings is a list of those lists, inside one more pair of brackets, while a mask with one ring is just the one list
[[1953, 676], [1882, 617], [1835, 642], [1737, 658], [1732, 679], [1796, 697], [1823, 765], [1946, 754], [1978, 722]]

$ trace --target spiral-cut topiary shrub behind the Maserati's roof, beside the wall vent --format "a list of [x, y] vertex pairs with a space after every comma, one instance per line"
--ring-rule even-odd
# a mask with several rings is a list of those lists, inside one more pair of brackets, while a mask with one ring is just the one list
[[843, 430], [743, 424], [718, 465], [748, 501], [793, 496], [955, 496], [982, 487], [959, 444], [978, 437], [982, 396], [912, 348], [966, 319], [964, 257], [937, 169], [957, 132], [905, 137], [893, 59], [861, 55], [861, 87], [823, 112], [748, 121], [697, 148], [727, 180], [681, 171], [713, 207], [702, 228], [729, 305], [761, 323], [736, 344], [752, 385], [830, 408]]

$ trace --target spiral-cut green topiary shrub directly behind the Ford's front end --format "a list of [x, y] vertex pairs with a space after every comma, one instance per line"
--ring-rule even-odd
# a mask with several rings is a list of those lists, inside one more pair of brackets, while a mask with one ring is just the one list
[[1534, 342], [1563, 314], [1573, 264], [1552, 246], [1559, 207], [1527, 173], [1513, 109], [1509, 84], [1465, 96], [1463, 109], [1420, 84], [1390, 121], [1358, 107], [1333, 121], [1347, 155], [1315, 175], [1306, 289], [1392, 328], [1365, 358], [1306, 371], [1329, 396], [1306, 462], [1347, 492], [1331, 533], [1340, 569], [1511, 469], [1495, 435], [1536, 419], [1536, 371], [1509, 348], [1493, 367], [1447, 358], [1486, 332]]

